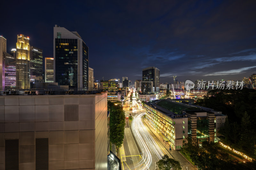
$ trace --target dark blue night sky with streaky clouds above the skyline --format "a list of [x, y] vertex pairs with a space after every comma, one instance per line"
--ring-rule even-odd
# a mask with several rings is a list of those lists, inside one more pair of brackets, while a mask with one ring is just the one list
[[[8, 3], [10, 2], [10, 3]], [[22, 3], [20, 3], [22, 2]], [[51, 1], [50, 1], [51, 2]], [[161, 3], [160, 3], [161, 2]], [[3, 1], [7, 52], [17, 34], [53, 57], [53, 27], [77, 31], [95, 80], [160, 69], [160, 82], [241, 80], [256, 73], [256, 1]]]

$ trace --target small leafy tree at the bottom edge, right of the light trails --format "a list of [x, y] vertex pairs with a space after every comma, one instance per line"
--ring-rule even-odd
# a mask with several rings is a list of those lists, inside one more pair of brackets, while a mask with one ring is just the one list
[[156, 162], [156, 165], [160, 170], [181, 170], [180, 162], [169, 158], [168, 155], [162, 156], [162, 159], [160, 159], [158, 162]]

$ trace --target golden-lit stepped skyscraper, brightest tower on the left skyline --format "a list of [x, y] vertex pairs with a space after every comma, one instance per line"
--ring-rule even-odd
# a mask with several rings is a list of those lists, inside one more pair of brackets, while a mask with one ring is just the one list
[[16, 43], [16, 87], [29, 88], [29, 61], [30, 45], [29, 37], [19, 34]]

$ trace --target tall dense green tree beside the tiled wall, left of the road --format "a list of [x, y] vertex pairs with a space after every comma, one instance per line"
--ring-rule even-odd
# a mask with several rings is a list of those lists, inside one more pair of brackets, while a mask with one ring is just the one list
[[108, 111], [110, 112], [110, 141], [112, 142], [112, 144], [115, 144], [118, 156], [119, 148], [122, 146], [124, 140], [125, 115], [122, 107], [122, 102], [116, 101], [112, 103], [108, 101]]

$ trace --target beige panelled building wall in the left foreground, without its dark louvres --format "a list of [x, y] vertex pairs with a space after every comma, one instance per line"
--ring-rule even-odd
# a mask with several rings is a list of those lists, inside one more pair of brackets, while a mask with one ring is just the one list
[[19, 168], [35, 169], [35, 140], [48, 138], [49, 169], [107, 169], [107, 93], [0, 97], [0, 169], [5, 140], [19, 139]]

